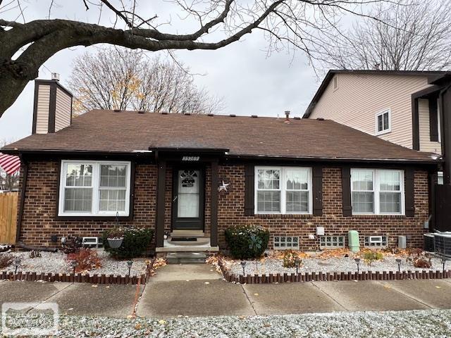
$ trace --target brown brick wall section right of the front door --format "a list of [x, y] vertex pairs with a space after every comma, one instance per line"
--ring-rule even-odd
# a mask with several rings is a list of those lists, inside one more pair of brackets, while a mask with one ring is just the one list
[[415, 217], [407, 218], [397, 215], [359, 215], [342, 216], [342, 189], [340, 168], [323, 169], [323, 215], [244, 215], [245, 168], [222, 166], [220, 177], [227, 177], [231, 183], [228, 194], [220, 194], [218, 210], [218, 237], [221, 247], [225, 247], [224, 230], [230, 225], [255, 224], [268, 228], [271, 232], [270, 248], [273, 235], [299, 236], [301, 249], [316, 249], [319, 240], [311, 240], [309, 234], [316, 234], [316, 226], [325, 227], [326, 235], [346, 235], [348, 230], [357, 230], [361, 236], [388, 235], [390, 246], [397, 244], [397, 235], [412, 235], [407, 241], [411, 246], [421, 247], [423, 224], [428, 219], [428, 174], [416, 171]]

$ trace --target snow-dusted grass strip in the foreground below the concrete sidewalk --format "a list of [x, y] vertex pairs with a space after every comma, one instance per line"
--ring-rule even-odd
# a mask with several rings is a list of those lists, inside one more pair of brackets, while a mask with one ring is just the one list
[[[48, 317], [47, 317], [48, 318]], [[42, 325], [48, 325], [46, 318]], [[13, 321], [23, 327], [20, 320]], [[449, 337], [451, 311], [389, 311], [152, 320], [61, 316], [54, 337]]]

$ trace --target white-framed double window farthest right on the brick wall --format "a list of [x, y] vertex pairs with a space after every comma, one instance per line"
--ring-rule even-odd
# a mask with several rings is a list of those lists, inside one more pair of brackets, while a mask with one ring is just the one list
[[351, 170], [354, 215], [404, 215], [404, 171]]

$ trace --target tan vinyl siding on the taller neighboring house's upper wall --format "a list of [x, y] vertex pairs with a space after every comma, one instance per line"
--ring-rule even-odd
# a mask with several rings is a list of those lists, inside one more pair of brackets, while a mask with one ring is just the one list
[[390, 109], [391, 132], [378, 137], [412, 149], [412, 93], [429, 87], [426, 76], [335, 74], [310, 118], [326, 118], [376, 134], [376, 114]]

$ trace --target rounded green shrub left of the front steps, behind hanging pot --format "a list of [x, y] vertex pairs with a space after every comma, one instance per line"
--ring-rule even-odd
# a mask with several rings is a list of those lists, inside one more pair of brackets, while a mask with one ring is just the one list
[[123, 227], [123, 237], [121, 247], [111, 249], [108, 244], [109, 232], [117, 231], [115, 229], [106, 230], [102, 236], [105, 251], [115, 258], [135, 258], [142, 256], [147, 246], [154, 237], [154, 230], [147, 227]]

